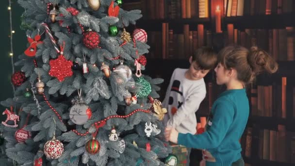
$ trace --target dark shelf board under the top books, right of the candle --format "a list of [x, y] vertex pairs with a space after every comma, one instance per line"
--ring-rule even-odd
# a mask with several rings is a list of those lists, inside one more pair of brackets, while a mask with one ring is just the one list
[[225, 17], [224, 27], [231, 23], [237, 29], [276, 29], [295, 26], [295, 13], [281, 15], [255, 15]]

